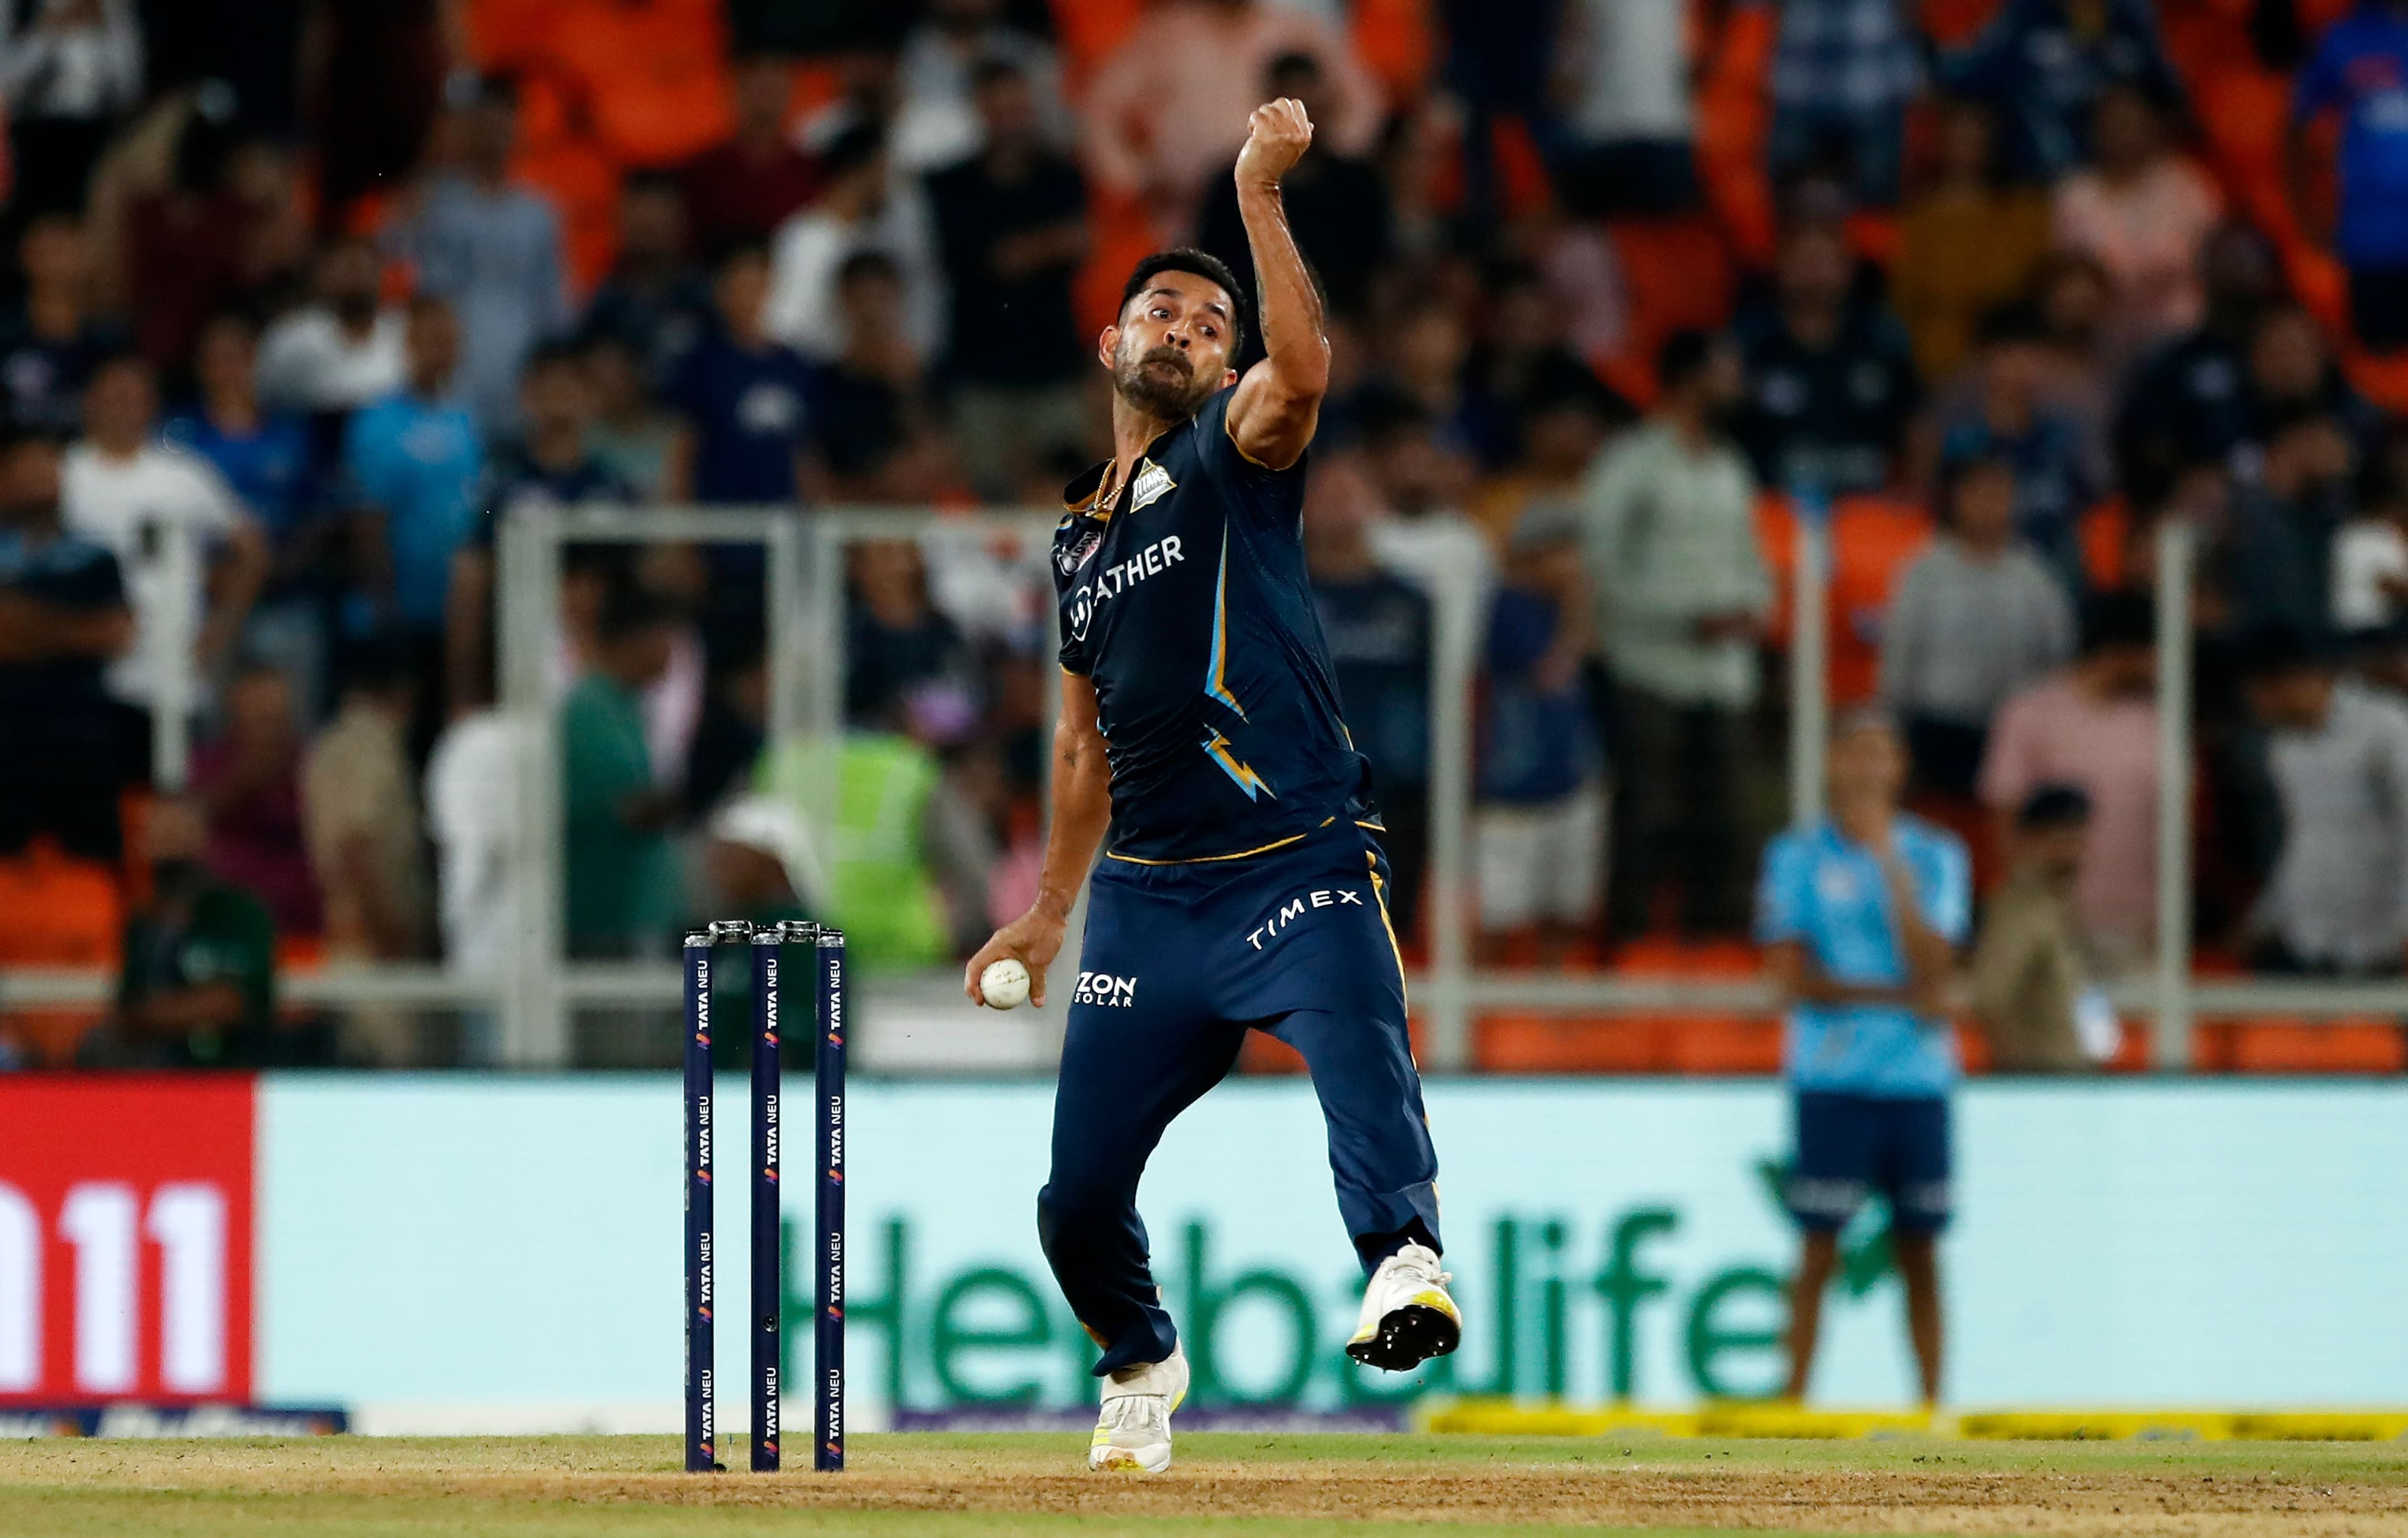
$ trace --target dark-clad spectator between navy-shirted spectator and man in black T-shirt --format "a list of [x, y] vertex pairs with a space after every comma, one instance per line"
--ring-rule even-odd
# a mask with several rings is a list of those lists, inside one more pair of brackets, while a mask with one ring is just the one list
[[927, 375], [903, 337], [903, 274], [884, 250], [845, 258], [836, 272], [843, 349], [819, 371], [819, 438], [833, 496], [872, 503], [937, 491], [922, 467]]

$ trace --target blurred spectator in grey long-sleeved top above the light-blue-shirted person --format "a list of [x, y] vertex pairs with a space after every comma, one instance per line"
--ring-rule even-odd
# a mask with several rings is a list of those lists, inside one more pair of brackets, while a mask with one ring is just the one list
[[1970, 797], [1991, 715], [2073, 655], [2061, 580], [2015, 542], [2013, 465], [1950, 465], [1941, 532], [1898, 580], [1881, 635], [1881, 698], [1905, 724], [1917, 787]]

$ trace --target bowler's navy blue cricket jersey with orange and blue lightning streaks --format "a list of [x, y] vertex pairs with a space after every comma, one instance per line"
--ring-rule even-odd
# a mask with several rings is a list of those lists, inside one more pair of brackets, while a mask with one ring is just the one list
[[1264, 469], [1221, 390], [1062, 493], [1062, 667], [1096, 681], [1115, 859], [1228, 859], [1373, 821], [1305, 582], [1303, 460]]

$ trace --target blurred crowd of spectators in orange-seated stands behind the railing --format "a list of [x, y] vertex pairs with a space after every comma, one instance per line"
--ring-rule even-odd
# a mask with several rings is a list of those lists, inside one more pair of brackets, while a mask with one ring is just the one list
[[[125, 968], [7, 1061], [412, 1061], [267, 970], [506, 960], [513, 515], [1050, 508], [1129, 262], [1252, 272], [1269, 96], [1317, 123], [1303, 537], [1409, 946], [1450, 655], [1486, 960], [1746, 936], [1828, 520], [1832, 698], [1984, 888], [2064, 871], [2085, 963], [2141, 968], [2196, 773], [2211, 951], [2408, 965], [2408, 2], [802, 12], [0, 7], [0, 886], [82, 893], [0, 965], [75, 907]], [[2199, 765], [2158, 761], [2170, 522]], [[843, 587], [848, 732], [771, 741], [756, 549], [563, 551], [571, 953], [833, 915], [913, 968], [1026, 903], [1043, 549], [939, 525]]]

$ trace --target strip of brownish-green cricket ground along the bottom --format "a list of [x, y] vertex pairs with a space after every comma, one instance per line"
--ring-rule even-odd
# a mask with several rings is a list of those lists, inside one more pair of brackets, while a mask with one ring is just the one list
[[1129, 1531], [2408, 1538], [2408, 1444], [1226, 1432], [1151, 1478], [1062, 1435], [855, 1437], [843, 1475], [686, 1475], [672, 1437], [0, 1444], [10, 1538]]

